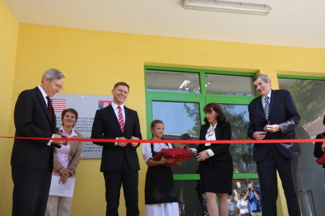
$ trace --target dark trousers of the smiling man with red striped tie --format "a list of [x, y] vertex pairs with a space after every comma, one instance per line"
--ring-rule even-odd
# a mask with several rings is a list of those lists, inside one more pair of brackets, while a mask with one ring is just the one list
[[124, 158], [122, 167], [117, 171], [104, 172], [106, 187], [106, 215], [118, 214], [120, 204], [120, 189], [123, 184], [123, 192], [127, 216], [138, 216], [138, 171], [132, 170]]

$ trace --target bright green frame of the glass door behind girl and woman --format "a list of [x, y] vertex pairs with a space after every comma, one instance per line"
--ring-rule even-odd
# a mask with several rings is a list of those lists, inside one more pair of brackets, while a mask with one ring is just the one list
[[[167, 70], [175, 72], [193, 72], [198, 73], [200, 78], [201, 93], [177, 93], [177, 92], [161, 92], [161, 91], [147, 91], [147, 77], [146, 70]], [[220, 74], [220, 75], [233, 75], [233, 76], [248, 76], [255, 77], [255, 73], [239, 72], [239, 71], [225, 71], [225, 70], [206, 70], [206, 69], [193, 69], [193, 68], [178, 68], [178, 67], [165, 67], [165, 66], [144, 66], [145, 77], [145, 96], [146, 96], [146, 125], [147, 125], [147, 138], [152, 138], [150, 131], [150, 123], [152, 121], [152, 101], [168, 101], [168, 102], [195, 102], [200, 104], [201, 124], [204, 122], [204, 112], [202, 108], [210, 103], [222, 104], [238, 104], [248, 105], [256, 96], [242, 96], [242, 95], [221, 95], [221, 94], [207, 94], [205, 87], [205, 74]], [[254, 89], [255, 91], [255, 89]], [[257, 95], [257, 92], [254, 92]], [[199, 174], [173, 174], [174, 180], [199, 180]], [[233, 179], [258, 179], [257, 173], [234, 173]]]

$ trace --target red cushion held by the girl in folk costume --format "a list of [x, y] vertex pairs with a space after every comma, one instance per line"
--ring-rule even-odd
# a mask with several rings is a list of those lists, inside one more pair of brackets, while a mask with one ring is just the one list
[[[168, 148], [158, 152], [153, 157], [153, 159], [160, 160], [162, 158], [162, 155], [164, 155], [164, 158], [166, 159], [174, 159], [175, 161], [178, 161], [178, 160], [189, 159], [194, 155], [194, 152], [191, 152], [183, 148]], [[167, 167], [172, 167], [172, 166], [176, 166], [177, 164], [175, 162], [172, 162], [172, 163], [164, 163], [163, 165]]]

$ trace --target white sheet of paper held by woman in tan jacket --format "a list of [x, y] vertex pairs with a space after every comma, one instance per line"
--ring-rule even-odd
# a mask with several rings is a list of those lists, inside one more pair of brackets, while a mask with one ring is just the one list
[[73, 197], [75, 178], [68, 178], [66, 183], [59, 184], [60, 176], [52, 175], [51, 187], [49, 195], [59, 197]]

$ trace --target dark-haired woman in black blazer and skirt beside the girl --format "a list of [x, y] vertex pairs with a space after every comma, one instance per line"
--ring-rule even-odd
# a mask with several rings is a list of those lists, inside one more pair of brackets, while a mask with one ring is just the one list
[[[217, 103], [207, 104], [203, 111], [206, 124], [201, 126], [200, 140], [231, 140], [231, 125]], [[232, 194], [233, 164], [230, 144], [200, 144], [197, 152], [202, 191], [207, 199], [209, 216], [228, 215], [228, 194]], [[219, 200], [219, 209], [216, 204]]]

